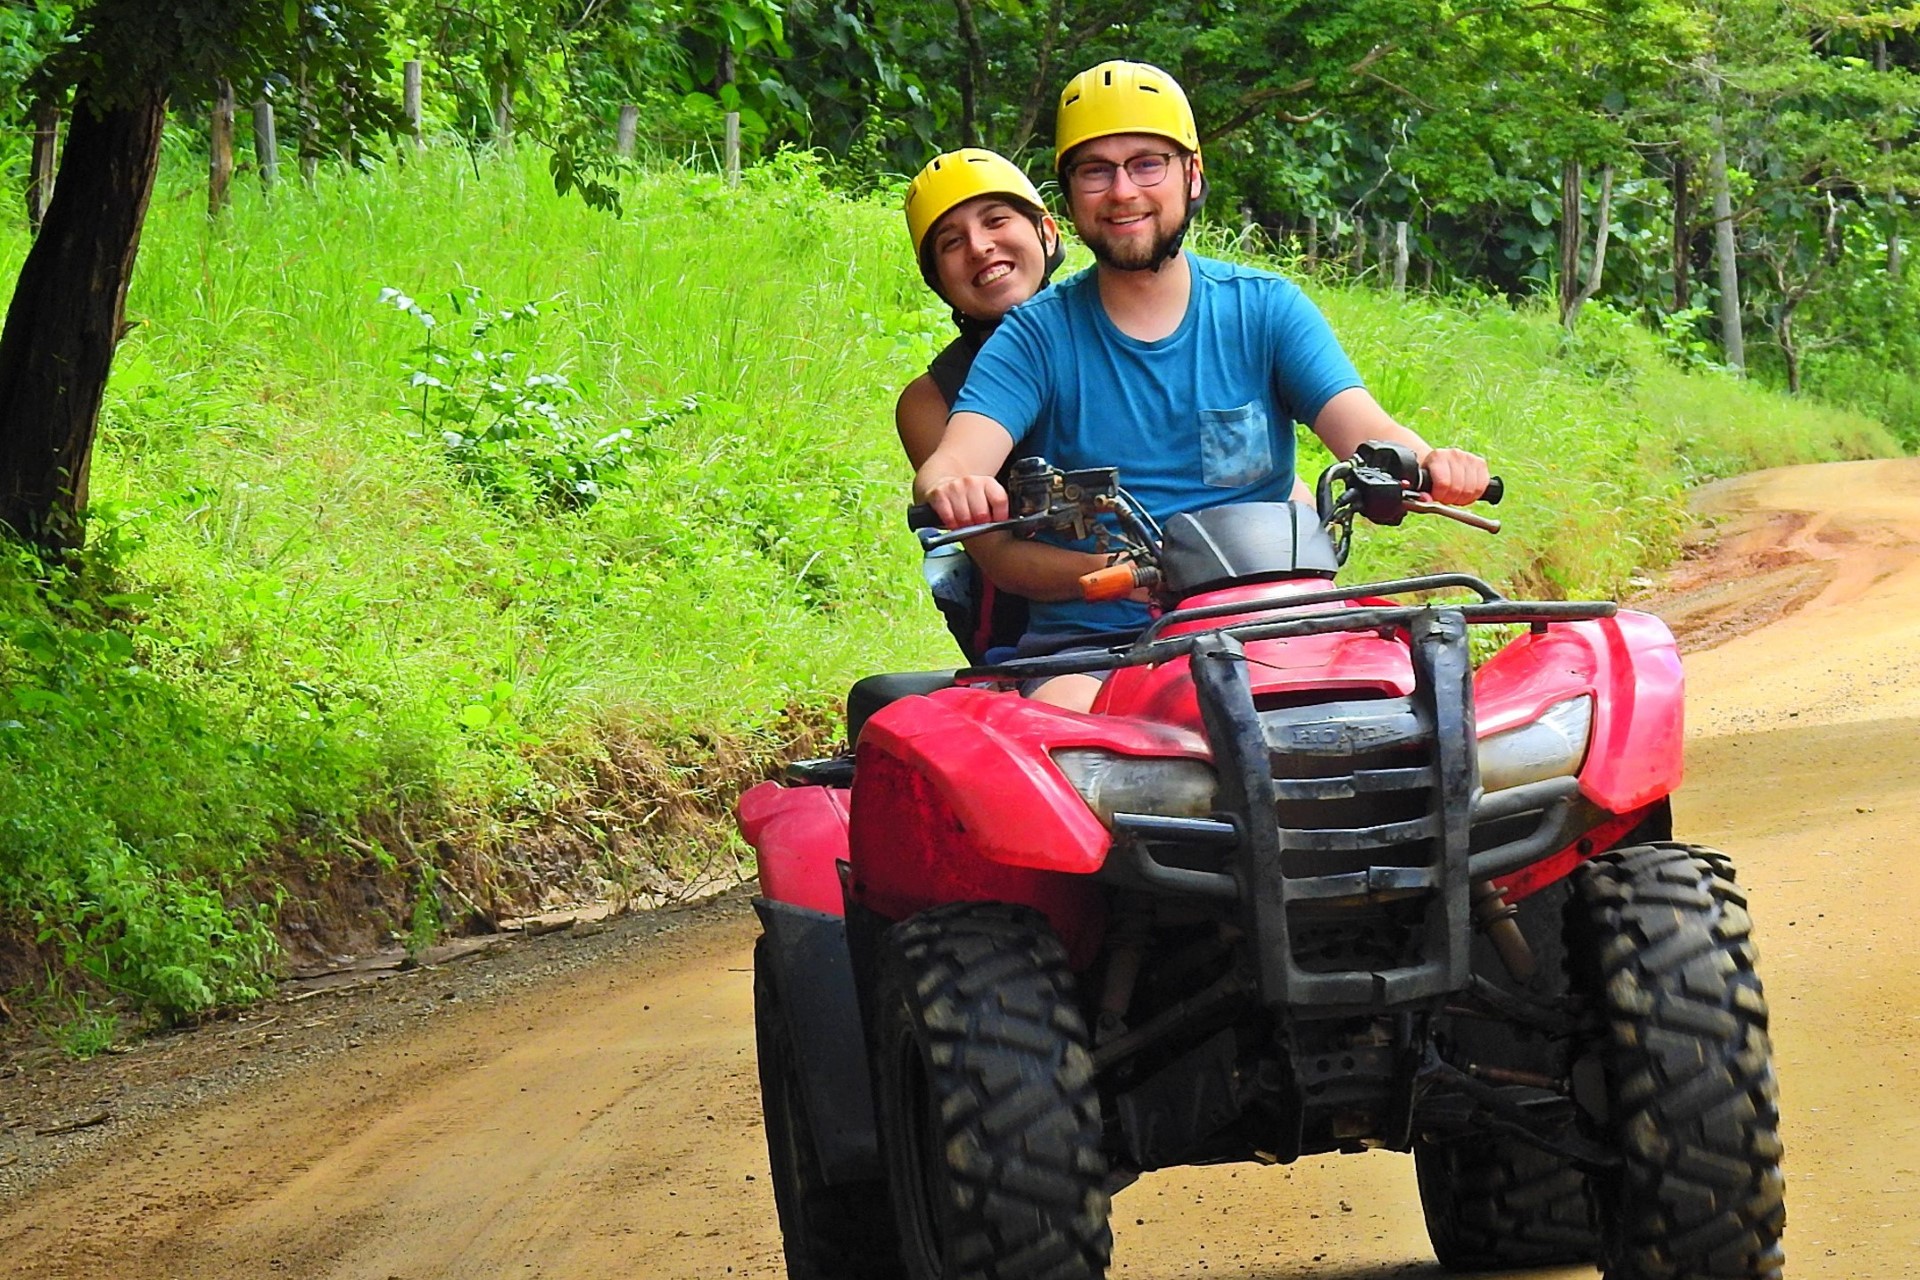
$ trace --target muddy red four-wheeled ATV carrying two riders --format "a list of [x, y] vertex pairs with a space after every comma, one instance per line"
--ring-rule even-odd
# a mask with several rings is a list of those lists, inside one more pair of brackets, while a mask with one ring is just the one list
[[[1164, 612], [862, 679], [851, 754], [741, 796], [787, 1274], [1094, 1278], [1144, 1171], [1392, 1148], [1446, 1267], [1778, 1276], [1766, 1002], [1732, 864], [1670, 841], [1667, 628], [1331, 585], [1356, 516], [1498, 530], [1394, 445], [1317, 512], [1165, 530], [1112, 470], [1008, 487], [983, 528], [1102, 537], [1089, 589]], [[1490, 624], [1524, 631], [1475, 670]], [[1110, 672], [1091, 714], [1008, 691], [1066, 672]]]

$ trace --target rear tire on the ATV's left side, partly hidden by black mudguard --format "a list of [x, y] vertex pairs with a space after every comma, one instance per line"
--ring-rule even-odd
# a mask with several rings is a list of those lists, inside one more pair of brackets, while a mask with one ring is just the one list
[[829, 1186], [806, 1115], [793, 1032], [766, 956], [753, 948], [753, 1029], [760, 1057], [760, 1113], [787, 1280], [897, 1280], [899, 1236], [881, 1178]]

